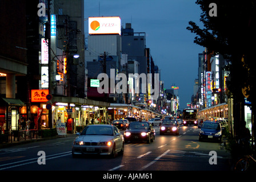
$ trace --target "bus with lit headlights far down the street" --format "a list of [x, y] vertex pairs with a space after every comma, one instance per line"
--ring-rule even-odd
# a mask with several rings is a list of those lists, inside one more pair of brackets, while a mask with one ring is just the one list
[[183, 110], [183, 125], [198, 125], [197, 109], [184, 109]]

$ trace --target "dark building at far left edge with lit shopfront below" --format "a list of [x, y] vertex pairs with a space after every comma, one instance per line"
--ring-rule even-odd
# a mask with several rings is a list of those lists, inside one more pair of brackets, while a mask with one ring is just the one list
[[19, 115], [26, 114], [28, 93], [22, 82], [28, 66], [26, 1], [0, 1], [0, 24], [0, 126], [6, 122], [7, 131], [16, 131]]

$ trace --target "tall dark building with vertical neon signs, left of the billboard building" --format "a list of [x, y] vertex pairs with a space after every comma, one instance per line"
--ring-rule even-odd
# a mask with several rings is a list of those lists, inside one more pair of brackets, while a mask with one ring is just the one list
[[[67, 92], [63, 93], [65, 90], [63, 85], [66, 83], [61, 84], [61, 81], [58, 81], [54, 93], [85, 98], [84, 1], [54, 0], [51, 9], [51, 18], [54, 17], [51, 24], [56, 22], [56, 31], [51, 35], [51, 48], [54, 52], [52, 56], [57, 62], [59, 61], [59, 65], [54, 65], [57, 67], [53, 69], [57, 70], [54, 74], [62, 76], [61, 64], [67, 64], [67, 76], [69, 77], [67, 78], [69, 81]], [[74, 55], [79, 57], [75, 58]], [[64, 58], [67, 63], [63, 61]]]

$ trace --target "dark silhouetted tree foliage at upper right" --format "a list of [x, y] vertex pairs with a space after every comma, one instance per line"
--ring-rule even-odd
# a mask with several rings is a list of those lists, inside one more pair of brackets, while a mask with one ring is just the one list
[[[255, 101], [256, 0], [197, 0], [196, 3], [202, 10], [203, 28], [189, 22], [187, 30], [196, 34], [194, 43], [230, 61], [230, 92], [237, 95], [242, 88], [250, 88], [248, 99]], [[211, 3], [217, 5], [217, 16], [209, 14], [213, 9], [209, 7]]]

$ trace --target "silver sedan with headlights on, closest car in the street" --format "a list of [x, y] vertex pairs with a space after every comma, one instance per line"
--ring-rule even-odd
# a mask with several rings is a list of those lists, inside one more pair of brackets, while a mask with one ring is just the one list
[[115, 157], [123, 154], [125, 139], [117, 127], [112, 125], [89, 125], [78, 137], [72, 146], [72, 156], [83, 154], [100, 154]]

